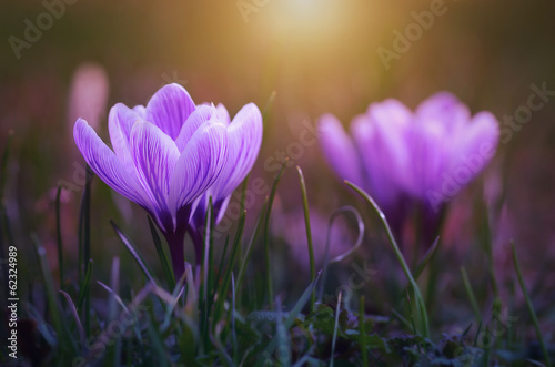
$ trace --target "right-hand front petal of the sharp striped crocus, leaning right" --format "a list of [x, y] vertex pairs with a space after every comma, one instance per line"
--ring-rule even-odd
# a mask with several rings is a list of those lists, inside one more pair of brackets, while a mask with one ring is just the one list
[[179, 211], [202, 195], [220, 176], [228, 156], [225, 125], [206, 122], [191, 137], [175, 165], [170, 205]]

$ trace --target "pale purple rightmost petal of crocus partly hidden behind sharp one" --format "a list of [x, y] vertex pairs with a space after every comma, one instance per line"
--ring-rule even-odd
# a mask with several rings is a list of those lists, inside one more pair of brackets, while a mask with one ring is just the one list
[[210, 188], [218, 201], [231, 195], [256, 162], [262, 144], [262, 114], [254, 103], [244, 105], [238, 112], [228, 126], [228, 164]]

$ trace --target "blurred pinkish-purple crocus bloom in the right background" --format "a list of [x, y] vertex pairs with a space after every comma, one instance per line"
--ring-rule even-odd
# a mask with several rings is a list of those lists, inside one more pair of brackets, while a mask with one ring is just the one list
[[372, 103], [352, 121], [351, 136], [331, 114], [320, 119], [319, 129], [335, 173], [371, 194], [397, 227], [411, 203], [436, 217], [491, 161], [500, 137], [493, 114], [472, 116], [447, 92], [414, 112], [393, 99]]

